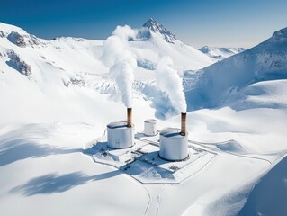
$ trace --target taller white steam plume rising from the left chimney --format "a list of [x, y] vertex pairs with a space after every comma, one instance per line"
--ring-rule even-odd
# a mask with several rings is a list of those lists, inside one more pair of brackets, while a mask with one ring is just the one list
[[132, 106], [133, 71], [137, 67], [137, 59], [130, 52], [129, 40], [135, 37], [130, 26], [118, 26], [103, 43], [103, 63], [110, 67], [110, 76], [121, 91], [121, 101], [127, 107]]

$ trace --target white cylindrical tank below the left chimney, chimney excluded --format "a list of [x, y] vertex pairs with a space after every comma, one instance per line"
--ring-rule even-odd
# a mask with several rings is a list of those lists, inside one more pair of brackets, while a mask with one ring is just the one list
[[110, 148], [130, 148], [134, 144], [134, 125], [128, 127], [127, 121], [108, 124], [107, 133]]

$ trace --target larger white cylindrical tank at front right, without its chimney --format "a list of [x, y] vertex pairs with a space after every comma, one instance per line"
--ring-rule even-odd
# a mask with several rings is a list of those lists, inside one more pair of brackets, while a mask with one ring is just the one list
[[166, 128], [160, 131], [159, 157], [179, 161], [188, 157], [188, 134], [180, 134], [180, 129]]

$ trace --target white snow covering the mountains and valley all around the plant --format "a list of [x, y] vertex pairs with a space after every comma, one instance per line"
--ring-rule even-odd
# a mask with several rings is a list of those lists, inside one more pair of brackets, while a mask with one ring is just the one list
[[126, 112], [103, 41], [41, 40], [0, 23], [1, 215], [285, 215], [287, 31], [210, 67], [179, 40], [134, 31], [136, 130], [150, 118], [158, 129], [180, 125], [155, 81], [169, 56], [183, 78], [189, 139], [216, 154], [212, 163], [176, 185], [139, 184], [94, 163], [83, 151]]

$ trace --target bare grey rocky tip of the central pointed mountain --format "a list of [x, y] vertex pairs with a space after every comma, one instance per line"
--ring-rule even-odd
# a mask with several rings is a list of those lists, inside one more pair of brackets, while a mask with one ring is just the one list
[[165, 37], [166, 42], [175, 43], [175, 40], [176, 40], [175, 35], [171, 31], [168, 31], [165, 28], [165, 26], [157, 23], [157, 21], [154, 20], [153, 18], [149, 18], [149, 20], [143, 24], [143, 27], [148, 28], [149, 31], [152, 31], [155, 33], [159, 32]]

